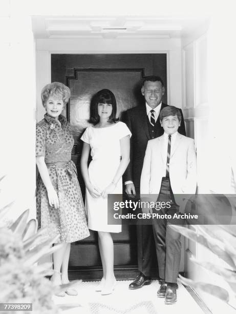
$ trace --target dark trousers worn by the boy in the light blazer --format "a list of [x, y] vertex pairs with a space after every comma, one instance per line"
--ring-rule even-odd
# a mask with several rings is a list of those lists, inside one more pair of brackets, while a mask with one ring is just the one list
[[[160, 193], [157, 201], [171, 201], [169, 209], [160, 210], [160, 214], [179, 212], [179, 206], [175, 203], [169, 178], [162, 178]], [[183, 221], [178, 220], [182, 225]], [[159, 276], [166, 282], [176, 283], [180, 268], [181, 241], [180, 233], [169, 227], [168, 219], [153, 220], [153, 232], [156, 245]]]

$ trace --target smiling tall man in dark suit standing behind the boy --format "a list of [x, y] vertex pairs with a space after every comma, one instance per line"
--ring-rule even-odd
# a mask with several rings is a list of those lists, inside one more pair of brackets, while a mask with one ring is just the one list
[[[140, 198], [140, 178], [147, 142], [163, 134], [159, 112], [167, 106], [161, 102], [165, 93], [161, 77], [145, 77], [141, 92], [145, 98], [145, 103], [127, 110], [123, 119], [132, 132], [130, 164], [123, 175], [125, 192], [130, 195], [133, 194], [137, 200]], [[180, 112], [182, 119], [179, 133], [186, 135], [183, 113], [181, 110]], [[140, 273], [130, 284], [130, 289], [138, 289], [143, 285], [151, 284], [153, 237], [152, 225], [137, 225], [138, 269]]]

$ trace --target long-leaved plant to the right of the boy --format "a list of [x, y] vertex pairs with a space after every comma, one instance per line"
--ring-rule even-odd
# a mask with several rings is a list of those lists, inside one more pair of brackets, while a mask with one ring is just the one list
[[[222, 215], [227, 211], [226, 204], [230, 204], [230, 211], [228, 211], [228, 217], [231, 219], [235, 215], [235, 200], [230, 199], [230, 203], [225, 201], [225, 196], [209, 198], [207, 195], [201, 195], [200, 198], [195, 200], [195, 205], [200, 208], [199, 213], [204, 213], [205, 217], [209, 213], [209, 209], [212, 212], [212, 208], [217, 209], [218, 213]], [[214, 210], [216, 213], [216, 210]], [[226, 216], [226, 215], [225, 215]], [[226, 281], [230, 289], [222, 288], [220, 286], [205, 283], [196, 282], [179, 275], [181, 282], [192, 288], [199, 288], [204, 292], [210, 293], [212, 296], [221, 299], [226, 302], [230, 307], [236, 309], [235, 298], [236, 298], [236, 226], [235, 225], [220, 225], [219, 223], [225, 219], [219, 218], [219, 215], [208, 215], [208, 225], [194, 225], [192, 226], [195, 230], [187, 227], [171, 225], [175, 231], [180, 232], [184, 237], [191, 241], [194, 241], [203, 247], [207, 248], [216, 257], [220, 258], [224, 265], [228, 267], [219, 266], [216, 263], [208, 261], [200, 261], [194, 257], [190, 258], [190, 261], [218, 274], [224, 281]], [[218, 224], [217, 224], [218, 223]], [[233, 299], [231, 298], [233, 296]]]

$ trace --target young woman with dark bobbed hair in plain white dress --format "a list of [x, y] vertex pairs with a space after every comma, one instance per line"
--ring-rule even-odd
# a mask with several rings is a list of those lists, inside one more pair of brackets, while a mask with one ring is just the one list
[[[130, 162], [131, 132], [116, 119], [114, 94], [103, 89], [91, 104], [90, 122], [83, 133], [81, 171], [86, 186], [89, 228], [98, 231], [98, 245], [103, 277], [97, 291], [112, 293], [114, 276], [114, 248], [111, 232], [121, 232], [121, 225], [108, 224], [108, 194], [122, 194], [122, 175]], [[92, 161], [88, 168], [91, 151]]]

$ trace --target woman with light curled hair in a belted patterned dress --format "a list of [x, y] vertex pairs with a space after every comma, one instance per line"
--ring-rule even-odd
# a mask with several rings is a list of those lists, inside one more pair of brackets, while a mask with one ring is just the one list
[[[55, 245], [62, 247], [53, 253], [52, 282], [67, 284], [71, 242], [89, 237], [87, 217], [71, 160], [74, 145], [71, 125], [61, 115], [70, 98], [70, 89], [62, 83], [51, 83], [41, 91], [44, 119], [36, 125], [37, 178], [36, 204], [39, 227], [46, 227], [50, 237], [58, 235]], [[75, 289], [65, 291], [77, 295]], [[60, 293], [59, 296], [65, 296]]]

